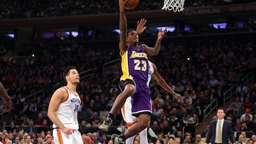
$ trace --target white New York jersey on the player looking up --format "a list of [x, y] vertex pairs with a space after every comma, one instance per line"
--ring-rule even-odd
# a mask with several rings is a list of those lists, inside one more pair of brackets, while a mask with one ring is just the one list
[[[66, 128], [78, 130], [78, 110], [81, 104], [80, 97], [70, 92], [68, 87], [64, 88], [67, 91], [68, 99], [61, 101], [55, 113]], [[54, 123], [53, 128], [57, 128]]]

